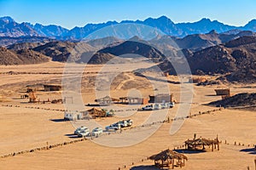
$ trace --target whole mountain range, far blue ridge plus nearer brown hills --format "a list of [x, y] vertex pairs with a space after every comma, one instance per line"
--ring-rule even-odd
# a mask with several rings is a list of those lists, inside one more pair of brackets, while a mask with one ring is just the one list
[[[220, 74], [221, 80], [229, 82], [256, 82], [256, 20], [241, 27], [208, 19], [174, 24], [165, 16], [120, 23], [109, 21], [67, 30], [54, 25], [18, 24], [2, 17], [0, 65], [36, 64], [49, 59], [94, 65], [132, 64], [143, 59], [156, 63], [146, 71], [191, 71]], [[80, 39], [84, 36], [87, 38]]]

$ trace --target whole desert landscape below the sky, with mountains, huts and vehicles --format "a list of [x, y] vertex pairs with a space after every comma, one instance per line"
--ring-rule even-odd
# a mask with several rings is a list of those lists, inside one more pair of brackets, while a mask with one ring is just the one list
[[255, 20], [84, 39], [0, 21], [0, 169], [256, 168]]

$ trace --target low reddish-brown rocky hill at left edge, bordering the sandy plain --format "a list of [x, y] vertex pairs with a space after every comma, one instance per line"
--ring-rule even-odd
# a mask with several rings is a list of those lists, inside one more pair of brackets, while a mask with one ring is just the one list
[[0, 48], [0, 65], [29, 65], [47, 61], [49, 61], [48, 57], [32, 49], [13, 51], [3, 47]]

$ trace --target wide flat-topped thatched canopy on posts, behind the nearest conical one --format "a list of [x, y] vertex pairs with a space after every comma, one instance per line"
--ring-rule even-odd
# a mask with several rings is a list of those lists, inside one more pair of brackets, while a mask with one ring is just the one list
[[216, 139], [188, 139], [185, 142], [185, 148], [187, 150], [205, 150], [205, 146], [212, 146], [212, 151], [213, 148], [216, 149], [216, 146], [218, 146], [219, 150], [219, 141], [218, 137]]

